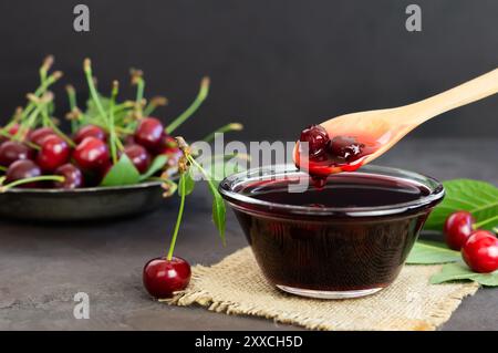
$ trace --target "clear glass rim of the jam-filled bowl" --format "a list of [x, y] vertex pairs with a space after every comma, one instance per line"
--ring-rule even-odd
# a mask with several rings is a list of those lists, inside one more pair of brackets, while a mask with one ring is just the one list
[[[266, 173], [266, 174], [264, 174]], [[282, 175], [308, 175], [305, 172], [299, 170], [293, 164], [281, 164], [262, 166], [248, 169], [226, 177], [218, 187], [221, 196], [235, 208], [246, 212], [261, 212], [271, 216], [273, 214], [281, 215], [307, 215], [307, 216], [347, 216], [347, 217], [378, 217], [397, 215], [406, 211], [417, 211], [427, 209], [438, 204], [444, 195], [443, 184], [437, 179], [401, 168], [384, 167], [376, 165], [365, 165], [355, 172], [349, 172], [349, 175], [357, 174], [377, 174], [383, 177], [394, 179], [405, 179], [412, 184], [418, 184], [429, 189], [427, 196], [423, 196], [412, 201], [400, 203], [393, 205], [372, 206], [372, 207], [309, 207], [289, 204], [278, 204], [260, 200], [250, 196], [235, 191], [237, 186], [247, 184], [249, 180], [264, 180], [268, 177]], [[240, 204], [256, 206], [256, 209], [249, 209]], [[280, 214], [279, 214], [280, 211]]]

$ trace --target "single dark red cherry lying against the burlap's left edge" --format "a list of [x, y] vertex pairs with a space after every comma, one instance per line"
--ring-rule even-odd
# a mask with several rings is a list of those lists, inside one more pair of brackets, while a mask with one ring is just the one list
[[156, 258], [145, 264], [143, 281], [152, 297], [165, 299], [187, 288], [190, 274], [190, 264], [181, 258]]

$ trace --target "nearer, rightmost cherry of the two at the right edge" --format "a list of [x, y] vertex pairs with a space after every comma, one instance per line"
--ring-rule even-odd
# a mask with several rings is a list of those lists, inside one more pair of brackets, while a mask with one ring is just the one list
[[476, 230], [461, 248], [461, 256], [468, 267], [479, 273], [498, 270], [498, 239], [487, 230]]

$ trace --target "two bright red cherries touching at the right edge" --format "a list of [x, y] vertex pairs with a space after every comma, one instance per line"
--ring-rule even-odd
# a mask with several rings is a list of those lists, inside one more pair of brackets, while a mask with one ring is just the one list
[[444, 226], [446, 243], [454, 250], [461, 250], [468, 267], [479, 273], [498, 269], [498, 238], [487, 230], [477, 229], [470, 212], [457, 211], [448, 216]]

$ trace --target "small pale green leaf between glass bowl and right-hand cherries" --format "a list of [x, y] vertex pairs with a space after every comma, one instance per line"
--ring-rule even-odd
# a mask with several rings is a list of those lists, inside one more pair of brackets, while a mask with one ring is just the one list
[[458, 251], [448, 249], [443, 242], [417, 241], [406, 259], [408, 264], [435, 264], [461, 260]]

